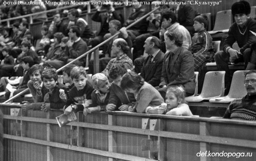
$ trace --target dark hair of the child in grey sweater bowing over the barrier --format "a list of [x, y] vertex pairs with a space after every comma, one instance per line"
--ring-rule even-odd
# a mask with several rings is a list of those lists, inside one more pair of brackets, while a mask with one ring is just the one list
[[121, 89], [135, 89], [140, 90], [141, 86], [144, 84], [144, 79], [134, 71], [127, 72], [121, 80]]

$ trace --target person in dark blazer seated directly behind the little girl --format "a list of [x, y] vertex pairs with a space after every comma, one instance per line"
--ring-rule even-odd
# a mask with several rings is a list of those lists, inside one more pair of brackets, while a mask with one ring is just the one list
[[170, 86], [181, 86], [186, 96], [195, 92], [194, 59], [187, 49], [182, 47], [180, 32], [166, 32], [164, 34], [166, 48], [170, 51], [165, 54], [162, 65], [161, 83], [158, 91], [165, 99], [166, 91]]

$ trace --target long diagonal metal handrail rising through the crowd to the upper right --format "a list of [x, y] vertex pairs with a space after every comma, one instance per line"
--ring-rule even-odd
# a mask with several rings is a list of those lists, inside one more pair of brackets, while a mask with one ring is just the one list
[[[159, 7], [155, 8], [154, 10], [148, 12], [147, 14], [145, 14], [144, 16], [142, 16], [140, 19], [137, 19], [135, 22], [133, 22], [132, 24], [130, 24], [129, 26], [127, 26], [126, 28], [129, 29], [131, 26], [134, 26], [136, 23], [140, 22], [142, 19], [145, 19], [148, 15], [150, 15], [151, 13], [155, 12]], [[97, 48], [99, 48], [101, 45], [106, 44], [108, 41], [110, 41], [111, 39], [113, 39], [115, 36], [117, 36], [118, 34], [120, 34], [121, 32], [118, 31], [116, 32], [113, 36], [111, 36], [110, 38], [106, 39], [105, 41], [103, 41], [102, 43], [100, 43], [99, 45], [96, 45], [95, 47], [93, 47], [92, 49], [88, 50], [87, 52], [83, 53], [82, 55], [80, 55], [79, 57], [75, 58], [74, 60], [72, 60], [71, 62], [67, 63], [66, 65], [62, 66], [61, 68], [59, 68], [58, 70], [56, 70], [56, 72], [61, 71], [64, 67], [66, 67], [69, 64], [74, 63], [75, 61], [79, 60], [80, 58], [83, 58], [85, 56], [87, 56], [87, 54], [93, 52], [94, 50], [96, 50]], [[27, 88], [26, 90], [21, 91], [20, 93], [18, 93], [17, 95], [9, 98], [7, 101], [5, 101], [4, 103], [8, 103], [9, 101], [12, 101], [13, 99], [15, 99], [16, 97], [19, 97], [20, 95], [22, 95], [23, 93], [27, 92], [29, 89]]]

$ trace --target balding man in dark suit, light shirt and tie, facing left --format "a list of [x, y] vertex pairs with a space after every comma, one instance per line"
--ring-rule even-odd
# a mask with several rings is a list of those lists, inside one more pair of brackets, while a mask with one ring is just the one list
[[141, 77], [153, 87], [160, 84], [164, 57], [164, 53], [160, 50], [160, 45], [161, 41], [155, 36], [148, 37], [144, 45], [144, 51], [148, 53], [148, 56], [143, 58]]

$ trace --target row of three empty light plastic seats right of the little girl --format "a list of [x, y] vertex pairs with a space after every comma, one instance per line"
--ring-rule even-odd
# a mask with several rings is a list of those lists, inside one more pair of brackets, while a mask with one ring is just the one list
[[224, 96], [224, 76], [225, 71], [209, 71], [206, 73], [203, 81], [202, 92], [197, 93], [197, 77], [198, 72], [195, 72], [196, 87], [193, 96], [186, 97], [187, 102], [201, 102], [209, 100], [211, 103], [230, 103], [235, 98], [244, 97], [247, 93], [244, 87], [244, 76], [247, 71], [235, 71], [229, 94]]

